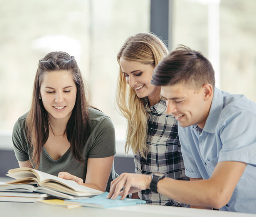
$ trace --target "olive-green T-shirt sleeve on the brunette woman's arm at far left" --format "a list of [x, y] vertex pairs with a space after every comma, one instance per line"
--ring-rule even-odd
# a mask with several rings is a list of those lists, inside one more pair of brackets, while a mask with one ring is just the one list
[[23, 134], [21, 132], [19, 126], [19, 120], [16, 121], [12, 131], [12, 143], [13, 143], [13, 150], [18, 161], [28, 161], [29, 156], [27, 151], [25, 150]]

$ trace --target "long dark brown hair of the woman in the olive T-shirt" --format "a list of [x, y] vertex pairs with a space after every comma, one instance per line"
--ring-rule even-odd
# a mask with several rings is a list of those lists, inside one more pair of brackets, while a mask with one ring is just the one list
[[44, 144], [49, 137], [49, 121], [47, 111], [44, 108], [40, 96], [42, 78], [47, 71], [67, 70], [74, 79], [77, 87], [77, 98], [72, 114], [66, 127], [67, 139], [70, 142], [70, 150], [75, 159], [83, 163], [82, 150], [89, 134], [89, 113], [88, 102], [85, 97], [85, 86], [80, 69], [74, 56], [65, 52], [48, 53], [42, 60], [39, 60], [37, 73], [35, 75], [32, 105], [26, 119], [27, 139], [33, 149], [32, 163], [38, 168], [40, 154]]

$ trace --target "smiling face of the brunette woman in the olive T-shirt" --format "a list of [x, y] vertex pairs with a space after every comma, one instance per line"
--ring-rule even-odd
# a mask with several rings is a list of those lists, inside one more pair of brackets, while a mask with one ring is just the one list
[[49, 120], [68, 121], [75, 106], [77, 87], [67, 70], [45, 72], [40, 95]]

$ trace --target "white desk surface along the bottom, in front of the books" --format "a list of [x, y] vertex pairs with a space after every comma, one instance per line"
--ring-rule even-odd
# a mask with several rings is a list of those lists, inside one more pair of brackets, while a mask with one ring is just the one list
[[78, 207], [66, 209], [46, 204], [0, 202], [1, 217], [256, 217], [256, 214], [223, 212], [216, 210], [165, 207], [157, 205], [133, 205], [97, 209]]

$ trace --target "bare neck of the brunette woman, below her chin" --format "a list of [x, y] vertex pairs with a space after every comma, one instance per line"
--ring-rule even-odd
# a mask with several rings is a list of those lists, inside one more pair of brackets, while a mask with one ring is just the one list
[[69, 121], [71, 114], [62, 119], [56, 119], [51, 114], [48, 114], [49, 128], [54, 136], [63, 136], [67, 128], [67, 122]]

